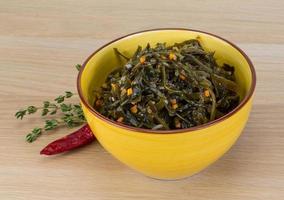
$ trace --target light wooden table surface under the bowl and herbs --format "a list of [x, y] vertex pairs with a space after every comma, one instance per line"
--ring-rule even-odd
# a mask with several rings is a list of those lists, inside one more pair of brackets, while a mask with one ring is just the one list
[[[279, 0], [1, 0], [0, 199], [284, 199], [283, 10]], [[62, 156], [39, 155], [67, 129], [25, 142], [42, 121], [38, 115], [18, 121], [16, 110], [75, 91], [74, 64], [102, 44], [158, 27], [215, 33], [252, 59], [253, 110], [225, 156], [191, 178], [159, 181], [124, 166], [97, 142]]]

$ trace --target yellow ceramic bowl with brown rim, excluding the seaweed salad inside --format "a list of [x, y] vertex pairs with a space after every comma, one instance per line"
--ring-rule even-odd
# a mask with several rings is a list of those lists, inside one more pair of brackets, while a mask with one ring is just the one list
[[[121, 125], [92, 108], [93, 90], [99, 88], [120, 60], [113, 48], [131, 56], [138, 45], [155, 45], [199, 37], [202, 46], [215, 51], [219, 63], [235, 66], [242, 101], [227, 115], [210, 123], [180, 130], [154, 131]], [[253, 65], [237, 46], [216, 35], [189, 29], [155, 29], [118, 38], [94, 52], [78, 76], [84, 114], [101, 145], [129, 167], [153, 178], [191, 176], [220, 158], [240, 136], [251, 110], [256, 77]]]

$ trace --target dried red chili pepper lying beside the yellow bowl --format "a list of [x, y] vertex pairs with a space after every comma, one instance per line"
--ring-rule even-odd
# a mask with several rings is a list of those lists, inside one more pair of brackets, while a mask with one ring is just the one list
[[93, 142], [94, 140], [95, 136], [92, 133], [89, 125], [86, 124], [79, 130], [48, 144], [44, 149], [40, 151], [40, 154], [59, 154], [65, 151], [76, 149], [78, 147], [82, 147]]

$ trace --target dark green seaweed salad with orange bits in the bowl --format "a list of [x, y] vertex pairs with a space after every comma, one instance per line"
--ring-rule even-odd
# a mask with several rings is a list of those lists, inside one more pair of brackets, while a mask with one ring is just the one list
[[94, 108], [133, 127], [182, 129], [205, 124], [233, 110], [240, 101], [234, 67], [218, 65], [198, 39], [172, 46], [138, 46], [126, 64], [111, 72]]

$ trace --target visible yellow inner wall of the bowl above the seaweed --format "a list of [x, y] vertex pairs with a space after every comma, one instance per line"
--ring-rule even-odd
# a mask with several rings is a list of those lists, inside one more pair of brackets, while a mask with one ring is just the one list
[[225, 40], [213, 35], [191, 30], [153, 30], [132, 34], [117, 39], [92, 54], [84, 63], [81, 72], [80, 89], [86, 102], [92, 106], [94, 102], [94, 89], [98, 90], [104, 83], [107, 75], [125, 62], [114, 53], [118, 48], [123, 54], [131, 57], [138, 45], [145, 47], [147, 43], [166, 42], [172, 45], [189, 39], [199, 38], [201, 45], [207, 51], [215, 52], [218, 64], [227, 63], [235, 67], [237, 84], [240, 86], [241, 99], [248, 95], [252, 87], [252, 71], [248, 60], [234, 46]]

